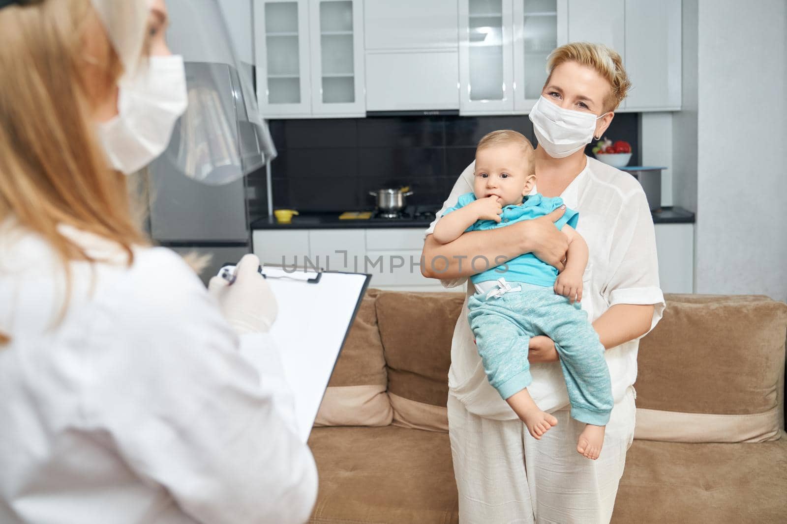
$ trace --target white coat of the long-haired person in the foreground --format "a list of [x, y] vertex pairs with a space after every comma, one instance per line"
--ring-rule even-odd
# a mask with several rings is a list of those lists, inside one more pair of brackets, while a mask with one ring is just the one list
[[72, 263], [58, 320], [50, 247], [6, 228], [0, 252], [0, 522], [309, 518], [316, 467], [278, 354], [267, 335], [238, 339], [178, 255]]

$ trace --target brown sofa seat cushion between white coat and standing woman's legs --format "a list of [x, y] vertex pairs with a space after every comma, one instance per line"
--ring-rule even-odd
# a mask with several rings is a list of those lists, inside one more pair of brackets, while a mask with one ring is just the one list
[[459, 522], [447, 434], [323, 427], [309, 447], [320, 475], [309, 522]]

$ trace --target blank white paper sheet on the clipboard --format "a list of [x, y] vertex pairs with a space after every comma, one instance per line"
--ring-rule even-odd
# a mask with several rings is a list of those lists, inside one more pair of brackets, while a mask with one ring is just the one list
[[371, 276], [324, 271], [312, 283], [317, 273], [270, 266], [263, 273], [279, 304], [271, 337], [294, 394], [298, 434], [306, 442]]

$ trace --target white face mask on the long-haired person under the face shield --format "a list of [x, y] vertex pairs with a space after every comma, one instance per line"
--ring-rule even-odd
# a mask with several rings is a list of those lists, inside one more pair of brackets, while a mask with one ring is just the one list
[[150, 57], [141, 69], [133, 78], [121, 79], [118, 115], [98, 129], [109, 163], [124, 174], [164, 152], [188, 104], [183, 57]]

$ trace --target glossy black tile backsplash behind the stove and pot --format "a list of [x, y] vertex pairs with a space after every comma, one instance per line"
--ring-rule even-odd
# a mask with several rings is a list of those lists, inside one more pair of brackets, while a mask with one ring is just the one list
[[[619, 113], [606, 136], [626, 140], [638, 165], [638, 113]], [[390, 116], [365, 119], [271, 120], [279, 156], [272, 162], [275, 208], [299, 211], [373, 209], [369, 191], [409, 185], [408, 203], [441, 204], [475, 157], [485, 134], [513, 129], [535, 145], [526, 115]], [[586, 151], [590, 153], [592, 145]], [[249, 174], [253, 215], [267, 214], [265, 171]]]

